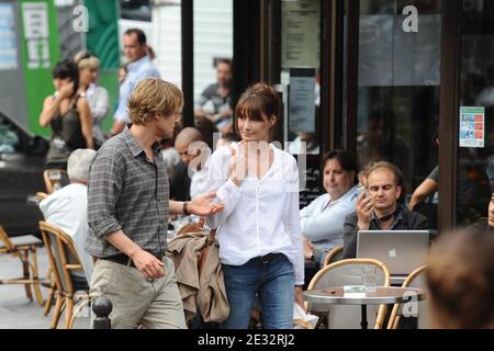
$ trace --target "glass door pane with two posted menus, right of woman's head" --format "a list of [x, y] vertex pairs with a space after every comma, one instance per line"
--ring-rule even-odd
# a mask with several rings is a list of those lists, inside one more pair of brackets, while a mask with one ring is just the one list
[[[322, 29], [325, 21], [322, 0], [281, 0], [280, 92], [283, 95], [282, 139], [284, 149], [295, 156], [304, 169], [300, 206], [305, 207], [321, 195], [319, 161], [329, 115], [322, 106], [328, 101], [322, 92]], [[329, 61], [329, 57], [324, 59]]]

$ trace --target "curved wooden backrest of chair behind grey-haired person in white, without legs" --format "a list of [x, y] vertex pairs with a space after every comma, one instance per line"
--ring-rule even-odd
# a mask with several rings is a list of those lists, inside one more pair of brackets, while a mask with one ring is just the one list
[[57, 290], [66, 294], [74, 294], [74, 284], [70, 278], [71, 271], [82, 271], [82, 264], [76, 252], [72, 238], [56, 226], [40, 222], [40, 230], [43, 235], [48, 258], [54, 268], [54, 279]]

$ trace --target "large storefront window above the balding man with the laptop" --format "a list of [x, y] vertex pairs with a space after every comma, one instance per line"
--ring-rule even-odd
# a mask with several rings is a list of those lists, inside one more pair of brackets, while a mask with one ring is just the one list
[[438, 162], [441, 1], [362, 0], [359, 26], [359, 165], [397, 165], [411, 194]]

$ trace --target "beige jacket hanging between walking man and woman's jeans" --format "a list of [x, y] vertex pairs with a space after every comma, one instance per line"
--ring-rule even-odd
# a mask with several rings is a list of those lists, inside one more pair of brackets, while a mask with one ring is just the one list
[[207, 250], [201, 274], [198, 269], [199, 252], [206, 240], [203, 233], [177, 236], [168, 244], [168, 256], [175, 263], [186, 319], [192, 318], [199, 306], [204, 321], [220, 322], [228, 318], [229, 305], [216, 242]]

